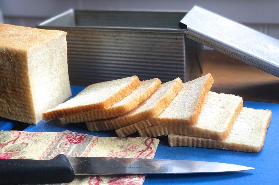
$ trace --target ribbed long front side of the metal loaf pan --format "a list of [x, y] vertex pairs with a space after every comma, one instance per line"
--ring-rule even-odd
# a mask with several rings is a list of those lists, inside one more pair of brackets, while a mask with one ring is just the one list
[[172, 31], [67, 29], [70, 83], [87, 86], [137, 75], [166, 82], [185, 76], [185, 35]]

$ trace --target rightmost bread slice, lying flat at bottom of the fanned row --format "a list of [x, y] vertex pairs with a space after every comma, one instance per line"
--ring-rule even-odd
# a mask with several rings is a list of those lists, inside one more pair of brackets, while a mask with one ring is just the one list
[[225, 140], [216, 141], [191, 136], [168, 135], [170, 146], [203, 147], [242, 152], [260, 152], [264, 145], [270, 110], [255, 110], [244, 107]]

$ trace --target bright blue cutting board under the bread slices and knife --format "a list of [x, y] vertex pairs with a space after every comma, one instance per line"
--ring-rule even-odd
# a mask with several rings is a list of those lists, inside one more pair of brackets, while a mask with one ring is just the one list
[[[71, 86], [73, 96], [83, 87]], [[234, 152], [195, 147], [169, 147], [167, 136], [160, 139], [156, 159], [183, 159], [233, 163], [254, 167], [254, 170], [231, 173], [191, 175], [147, 175], [144, 184], [278, 184], [279, 183], [279, 104], [244, 101], [245, 107], [269, 109], [272, 118], [263, 149], [258, 153]], [[116, 137], [114, 131], [90, 132], [85, 123], [62, 125], [56, 120], [30, 125], [24, 131], [60, 132], [70, 130], [95, 136]], [[137, 136], [134, 134], [133, 136]]]

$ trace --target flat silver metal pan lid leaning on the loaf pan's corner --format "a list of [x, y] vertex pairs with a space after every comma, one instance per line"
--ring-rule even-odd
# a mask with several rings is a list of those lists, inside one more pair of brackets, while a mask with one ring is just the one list
[[198, 6], [179, 26], [187, 38], [279, 77], [279, 40]]

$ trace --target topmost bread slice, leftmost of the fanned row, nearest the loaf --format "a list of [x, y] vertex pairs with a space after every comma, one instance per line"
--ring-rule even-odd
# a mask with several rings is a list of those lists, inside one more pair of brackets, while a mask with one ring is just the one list
[[132, 93], [140, 85], [137, 76], [95, 83], [65, 103], [43, 113], [44, 120], [107, 108]]

